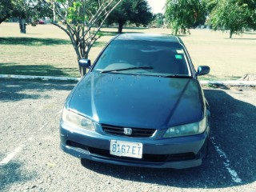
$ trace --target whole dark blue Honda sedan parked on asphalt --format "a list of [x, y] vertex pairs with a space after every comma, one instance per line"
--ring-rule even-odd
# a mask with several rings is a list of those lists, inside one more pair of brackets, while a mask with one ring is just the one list
[[77, 158], [122, 166], [182, 169], [206, 156], [210, 111], [182, 40], [121, 34], [66, 99], [61, 147]]

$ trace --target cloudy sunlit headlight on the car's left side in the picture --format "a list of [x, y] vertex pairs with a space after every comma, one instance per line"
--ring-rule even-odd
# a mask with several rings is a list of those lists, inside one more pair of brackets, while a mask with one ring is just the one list
[[86, 130], [95, 130], [94, 124], [89, 118], [85, 118], [64, 107], [62, 112], [62, 121], [72, 126], [77, 126]]

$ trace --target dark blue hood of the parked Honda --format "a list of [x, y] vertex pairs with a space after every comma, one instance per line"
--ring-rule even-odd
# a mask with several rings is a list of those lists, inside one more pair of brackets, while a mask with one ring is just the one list
[[194, 78], [91, 72], [70, 95], [69, 109], [94, 122], [166, 129], [202, 119], [202, 91]]

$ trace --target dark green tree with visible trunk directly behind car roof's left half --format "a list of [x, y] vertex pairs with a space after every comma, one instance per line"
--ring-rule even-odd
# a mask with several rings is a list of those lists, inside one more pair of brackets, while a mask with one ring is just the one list
[[123, 0], [120, 5], [107, 18], [107, 24], [118, 23], [118, 33], [122, 33], [122, 27], [126, 22], [135, 23], [136, 26], [146, 26], [153, 19], [150, 6], [146, 0]]

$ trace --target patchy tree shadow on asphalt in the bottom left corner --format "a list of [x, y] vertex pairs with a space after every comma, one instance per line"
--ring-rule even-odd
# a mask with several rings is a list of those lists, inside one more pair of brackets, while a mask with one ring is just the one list
[[0, 166], [0, 190], [8, 191], [8, 188], [15, 183], [29, 181], [36, 177], [35, 173], [26, 173], [21, 169], [22, 163], [11, 161]]

